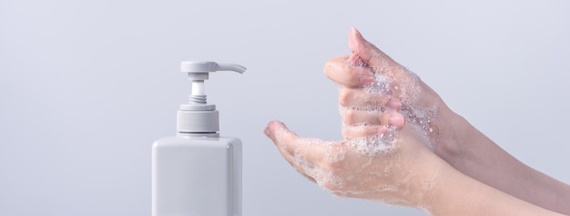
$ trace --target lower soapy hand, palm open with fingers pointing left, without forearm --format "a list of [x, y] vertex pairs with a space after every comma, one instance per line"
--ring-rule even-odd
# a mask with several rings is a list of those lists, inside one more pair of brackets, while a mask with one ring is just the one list
[[[436, 157], [412, 127], [325, 142], [301, 138], [273, 121], [265, 133], [301, 174], [337, 196], [422, 207], [438, 174]], [[435, 164], [434, 164], [435, 163]]]

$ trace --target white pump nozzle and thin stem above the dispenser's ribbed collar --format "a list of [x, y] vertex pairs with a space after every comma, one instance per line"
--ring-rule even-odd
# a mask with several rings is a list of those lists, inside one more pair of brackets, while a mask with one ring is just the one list
[[192, 93], [189, 97], [190, 103], [205, 104], [206, 94], [204, 94], [204, 80], [209, 79], [210, 72], [233, 71], [243, 74], [246, 68], [239, 64], [184, 61], [180, 63], [180, 71], [188, 73], [188, 79], [192, 80]]

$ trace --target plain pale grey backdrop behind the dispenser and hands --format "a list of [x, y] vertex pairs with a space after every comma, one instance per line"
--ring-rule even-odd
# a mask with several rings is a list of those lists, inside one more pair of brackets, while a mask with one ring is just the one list
[[570, 182], [570, 2], [0, 0], [0, 215], [149, 215], [150, 145], [174, 134], [186, 59], [244, 142], [243, 215], [423, 215], [332, 197], [262, 131], [340, 139], [323, 74], [348, 30], [523, 162]]

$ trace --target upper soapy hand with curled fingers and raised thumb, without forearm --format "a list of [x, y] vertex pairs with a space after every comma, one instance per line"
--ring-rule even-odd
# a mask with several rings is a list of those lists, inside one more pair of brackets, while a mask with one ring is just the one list
[[[324, 73], [339, 84], [343, 136], [373, 135], [385, 123], [419, 127], [435, 151], [449, 108], [420, 78], [362, 38], [354, 28], [349, 35], [352, 54], [331, 59]], [[384, 113], [392, 113], [382, 119]]]

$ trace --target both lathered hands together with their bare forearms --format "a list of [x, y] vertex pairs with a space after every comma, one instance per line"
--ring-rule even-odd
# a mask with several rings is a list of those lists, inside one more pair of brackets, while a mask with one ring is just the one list
[[516, 161], [356, 29], [349, 45], [350, 56], [324, 68], [339, 84], [344, 139], [301, 138], [277, 121], [265, 129], [298, 172], [339, 196], [433, 215], [553, 214], [534, 204], [568, 211], [570, 187]]

